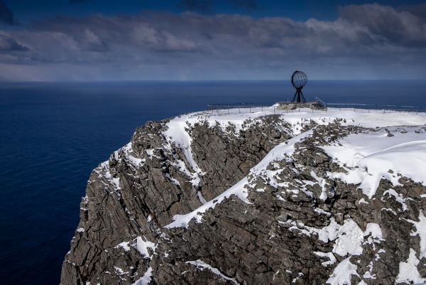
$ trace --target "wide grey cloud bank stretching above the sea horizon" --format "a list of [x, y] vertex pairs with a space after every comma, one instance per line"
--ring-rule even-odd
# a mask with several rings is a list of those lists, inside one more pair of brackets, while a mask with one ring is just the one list
[[294, 68], [339, 78], [426, 73], [426, 18], [378, 4], [342, 7], [335, 21], [155, 11], [58, 17], [7, 35], [18, 45], [4, 47], [27, 47], [7, 63], [19, 76], [37, 65], [43, 80], [274, 79]]

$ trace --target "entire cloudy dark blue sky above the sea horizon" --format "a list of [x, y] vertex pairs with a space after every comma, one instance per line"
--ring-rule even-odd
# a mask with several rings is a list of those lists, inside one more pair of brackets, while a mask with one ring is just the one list
[[0, 0], [0, 81], [426, 79], [426, 1]]

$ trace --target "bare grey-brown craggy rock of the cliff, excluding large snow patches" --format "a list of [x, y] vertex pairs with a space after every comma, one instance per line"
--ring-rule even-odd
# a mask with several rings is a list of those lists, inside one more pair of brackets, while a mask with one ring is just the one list
[[[410, 221], [426, 210], [425, 199], [419, 199], [424, 186], [400, 177], [395, 187], [382, 179], [376, 198], [368, 200], [358, 185], [327, 177], [327, 171], [345, 170], [320, 146], [358, 132], [389, 134], [388, 129], [344, 127], [339, 120], [325, 126], [303, 123], [300, 128], [313, 129], [312, 136], [295, 145], [291, 158], [267, 168], [278, 171], [277, 181], [298, 190], [293, 193], [290, 186], [277, 187], [271, 178], [249, 174], [274, 146], [293, 136], [278, 115], [247, 122], [238, 133], [231, 125], [225, 130], [207, 122], [188, 126], [192, 153], [204, 173], [198, 185], [182, 171], [179, 163], [193, 171], [182, 149], [163, 134], [167, 122], [139, 127], [131, 144], [92, 171], [80, 223], [62, 264], [62, 285], [135, 284], [147, 271], [152, 272], [150, 284], [324, 284], [348, 257], [333, 253], [335, 240], [324, 242], [315, 233], [332, 220], [339, 225], [354, 220], [363, 232], [373, 222], [383, 232], [383, 240], [363, 237], [362, 254], [350, 257], [359, 274], [352, 275], [354, 284], [361, 279], [394, 284], [410, 249], [420, 252], [420, 237], [411, 235], [415, 227]], [[325, 200], [312, 173], [326, 181]], [[174, 215], [200, 207], [200, 196], [214, 200], [245, 176], [253, 182], [251, 203], [231, 195], [207, 210], [202, 222], [165, 227]], [[389, 188], [403, 195], [407, 209], [384, 194]], [[424, 264], [417, 269], [426, 277]]]

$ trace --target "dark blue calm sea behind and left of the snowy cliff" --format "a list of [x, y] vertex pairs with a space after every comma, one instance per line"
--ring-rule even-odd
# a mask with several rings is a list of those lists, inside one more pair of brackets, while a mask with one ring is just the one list
[[[289, 82], [0, 84], [0, 284], [59, 284], [92, 168], [148, 120], [273, 104]], [[325, 102], [426, 105], [425, 81], [310, 81]]]

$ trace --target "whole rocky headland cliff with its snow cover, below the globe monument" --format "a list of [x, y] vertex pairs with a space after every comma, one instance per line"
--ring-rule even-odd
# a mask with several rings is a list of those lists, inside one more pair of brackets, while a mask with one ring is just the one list
[[426, 116], [310, 112], [138, 128], [89, 178], [61, 284], [426, 280]]

